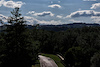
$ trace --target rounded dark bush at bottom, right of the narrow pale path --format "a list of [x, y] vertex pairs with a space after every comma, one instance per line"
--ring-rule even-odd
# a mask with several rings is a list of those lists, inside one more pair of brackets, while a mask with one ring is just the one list
[[87, 54], [83, 52], [81, 47], [72, 47], [65, 53], [65, 64], [67, 67], [88, 66], [89, 61], [85, 57], [88, 58]]

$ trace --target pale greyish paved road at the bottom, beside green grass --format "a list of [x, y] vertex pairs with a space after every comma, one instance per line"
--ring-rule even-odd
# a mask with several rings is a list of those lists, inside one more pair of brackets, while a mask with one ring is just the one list
[[49, 57], [39, 55], [39, 61], [41, 67], [58, 67], [54, 60]]

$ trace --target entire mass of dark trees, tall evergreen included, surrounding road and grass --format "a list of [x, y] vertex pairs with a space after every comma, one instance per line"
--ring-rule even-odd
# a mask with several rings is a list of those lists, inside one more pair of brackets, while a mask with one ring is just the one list
[[37, 26], [27, 29], [19, 8], [11, 14], [10, 25], [0, 33], [0, 67], [31, 67], [38, 53], [62, 55], [65, 67], [100, 67], [100, 27], [69, 28], [59, 32]]

